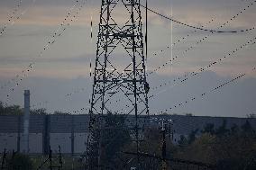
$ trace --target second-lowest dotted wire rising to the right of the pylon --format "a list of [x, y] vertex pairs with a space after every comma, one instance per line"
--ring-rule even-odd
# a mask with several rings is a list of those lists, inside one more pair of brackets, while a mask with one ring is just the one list
[[[175, 86], [175, 85], [178, 85], [178, 83], [185, 83], [189, 77], [192, 77], [192, 76], [197, 76], [199, 73], [205, 71], [206, 69], [210, 68], [210, 67], [213, 67], [215, 66], [216, 64], [218, 63], [221, 63], [222, 61], [224, 61], [225, 58], [232, 58], [234, 57], [233, 55], [238, 52], [239, 50], [241, 49], [244, 49], [245, 47], [247, 47], [248, 45], [253, 45], [255, 43], [255, 40], [256, 40], [256, 37], [254, 37], [253, 39], [251, 40], [248, 40], [246, 43], [242, 44], [240, 47], [236, 48], [236, 49], [233, 49], [231, 52], [229, 52], [227, 55], [225, 55], [223, 58], [218, 58], [216, 59], [215, 61], [211, 61], [210, 64], [208, 64], [206, 67], [201, 67], [199, 68], [197, 71], [193, 71], [185, 76], [178, 76], [178, 78], [175, 78], [174, 80], [172, 81], [169, 81], [169, 82], [166, 82], [166, 83], [163, 83], [161, 85], [158, 85], [158, 86], [155, 86], [155, 87], [152, 87], [151, 89], [152, 90], [156, 90], [162, 86], [166, 86], [166, 85], [169, 85], [171, 84], [172, 82], [174, 83], [174, 85], [172, 85], [171, 87]], [[151, 95], [149, 98], [153, 97], [153, 95]]]

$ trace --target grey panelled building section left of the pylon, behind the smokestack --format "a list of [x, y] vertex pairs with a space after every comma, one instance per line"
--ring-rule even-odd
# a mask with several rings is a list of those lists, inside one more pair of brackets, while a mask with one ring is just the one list
[[[53, 153], [80, 154], [86, 151], [88, 115], [31, 115], [31, 154]], [[0, 150], [25, 151], [23, 143], [23, 116], [0, 116]], [[1, 152], [1, 151], [0, 151]]]

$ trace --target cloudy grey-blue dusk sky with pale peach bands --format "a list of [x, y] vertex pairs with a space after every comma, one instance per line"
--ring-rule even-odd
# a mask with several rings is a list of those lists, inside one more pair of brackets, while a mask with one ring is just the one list
[[[101, 1], [87, 0], [78, 15], [75, 2], [23, 0], [17, 8], [17, 0], [0, 0], [0, 28], [5, 28], [5, 32], [0, 35], [0, 101], [23, 106], [23, 90], [30, 89], [32, 109], [42, 107], [48, 112], [74, 112], [89, 106], [93, 84], [89, 65], [90, 61], [95, 63], [96, 59]], [[78, 3], [81, 4], [80, 1]], [[145, 4], [145, 1], [141, 3]], [[252, 0], [148, 0], [148, 6], [180, 22], [204, 26], [209, 30], [239, 31], [256, 26], [256, 3]], [[76, 17], [69, 26], [61, 26], [60, 23], [65, 21], [69, 12]], [[233, 18], [237, 13], [237, 17]], [[18, 16], [19, 19], [16, 19]], [[154, 94], [149, 100], [151, 114], [166, 109], [168, 113], [224, 117], [246, 117], [256, 113], [256, 71], [251, 71], [256, 67], [256, 45], [252, 43], [256, 37], [255, 30], [210, 33], [170, 22], [155, 13], [148, 12], [148, 16], [147, 72], [178, 56], [173, 62], [168, 62], [167, 67], [161, 67], [147, 77], [152, 89], [149, 95]], [[120, 24], [125, 21], [127, 15], [123, 13], [123, 6], [116, 7], [113, 17]], [[11, 22], [8, 22], [9, 19]], [[143, 8], [142, 24], [145, 33]], [[220, 28], [222, 24], [224, 26]], [[56, 31], [60, 35], [52, 38]], [[184, 37], [186, 39], [183, 40]], [[172, 49], [167, 48], [178, 40], [180, 42]], [[232, 57], [224, 58], [250, 40]], [[54, 43], [48, 45], [49, 41]], [[190, 47], [193, 49], [187, 50]], [[123, 54], [122, 49], [116, 49], [116, 66], [126, 62], [119, 58]], [[183, 84], [169, 83], [220, 58], [224, 59]], [[27, 72], [31, 63], [33, 67]], [[201, 96], [244, 73], [246, 75], [242, 78]], [[168, 85], [160, 87], [165, 83]], [[155, 89], [155, 86], [158, 88]], [[197, 100], [169, 110], [194, 97]]]

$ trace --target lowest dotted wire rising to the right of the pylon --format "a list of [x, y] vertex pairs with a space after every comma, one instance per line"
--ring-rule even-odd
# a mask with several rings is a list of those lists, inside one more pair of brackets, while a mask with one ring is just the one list
[[233, 79], [231, 79], [231, 80], [225, 82], [224, 84], [218, 85], [218, 86], [216, 86], [215, 88], [213, 88], [213, 89], [211, 89], [211, 90], [209, 90], [209, 91], [207, 91], [207, 92], [205, 92], [205, 93], [203, 93], [203, 94], [198, 95], [197, 97], [196, 97], [196, 96], [191, 97], [191, 98], [188, 99], [187, 101], [182, 102], [182, 103], [178, 103], [178, 104], [176, 104], [176, 105], [173, 105], [173, 106], [170, 107], [169, 109], [166, 109], [165, 111], [161, 111], [161, 112], [159, 112], [159, 113], [171, 111], [171, 110], [176, 109], [176, 108], [178, 108], [178, 107], [180, 107], [180, 106], [184, 106], [184, 105], [186, 105], [187, 103], [193, 102], [193, 101], [195, 101], [196, 99], [203, 98], [203, 97], [206, 97], [206, 95], [215, 93], [217, 90], [221, 89], [222, 87], [224, 87], [224, 86], [226, 86], [226, 85], [229, 85], [229, 84], [233, 83], [234, 81], [237, 81], [238, 79], [240, 79], [240, 78], [242, 78], [242, 77], [244, 77], [244, 76], [250, 74], [251, 72], [253, 72], [253, 71], [255, 71], [255, 70], [256, 70], [256, 67], [253, 67], [250, 72], [243, 73], [243, 74], [241, 74], [241, 75], [239, 75], [239, 76], [236, 76], [236, 77], [234, 77]]

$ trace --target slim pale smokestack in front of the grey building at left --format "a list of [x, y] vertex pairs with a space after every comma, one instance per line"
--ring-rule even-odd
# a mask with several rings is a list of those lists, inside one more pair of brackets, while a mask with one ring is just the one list
[[29, 135], [30, 135], [30, 91], [24, 91], [24, 147], [25, 153], [29, 153]]

